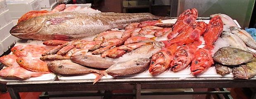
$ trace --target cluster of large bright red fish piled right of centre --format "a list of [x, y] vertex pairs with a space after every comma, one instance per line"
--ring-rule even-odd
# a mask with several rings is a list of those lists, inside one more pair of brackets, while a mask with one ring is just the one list
[[[149, 67], [152, 75], [160, 74], [168, 68], [174, 72], [180, 71], [187, 68], [191, 62], [190, 70], [193, 75], [197, 75], [213, 64], [211, 50], [213, 43], [223, 31], [223, 22], [220, 16], [214, 16], [209, 24], [197, 22], [197, 15], [197, 9], [187, 9], [180, 14], [172, 32], [167, 36], [169, 40], [162, 41], [165, 48], [152, 56]], [[201, 35], [204, 35], [206, 46], [198, 50]]]

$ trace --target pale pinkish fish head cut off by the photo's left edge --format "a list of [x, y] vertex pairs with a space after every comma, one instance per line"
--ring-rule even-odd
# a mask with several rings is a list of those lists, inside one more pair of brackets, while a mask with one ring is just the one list
[[15, 62], [16, 62], [16, 59], [18, 57], [16, 57], [15, 55], [13, 54], [10, 54], [10, 55], [5, 55], [3, 57], [0, 57], [0, 62], [2, 64], [5, 64], [7, 66], [12, 66]]

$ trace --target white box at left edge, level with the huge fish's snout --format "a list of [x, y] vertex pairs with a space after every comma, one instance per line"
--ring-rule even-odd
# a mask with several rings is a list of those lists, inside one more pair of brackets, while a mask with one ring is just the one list
[[3, 26], [2, 28], [0, 28], [0, 34], [1, 34], [0, 41], [5, 40], [5, 38], [7, 38], [10, 35], [10, 30], [12, 29], [13, 26], [14, 25], [13, 25], [13, 23], [11, 21], [9, 24], [7, 24], [7, 25]]

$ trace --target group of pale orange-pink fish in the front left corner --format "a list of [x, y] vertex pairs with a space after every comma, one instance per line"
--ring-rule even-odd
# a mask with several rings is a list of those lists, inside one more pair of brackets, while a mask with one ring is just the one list
[[39, 57], [45, 52], [44, 47], [19, 45], [11, 49], [13, 54], [0, 57], [0, 62], [7, 66], [0, 70], [0, 77], [26, 80], [50, 73], [47, 63]]

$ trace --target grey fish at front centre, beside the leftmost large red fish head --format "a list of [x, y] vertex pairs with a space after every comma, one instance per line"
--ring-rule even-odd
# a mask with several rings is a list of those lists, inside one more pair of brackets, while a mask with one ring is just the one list
[[149, 68], [150, 59], [136, 58], [129, 61], [123, 61], [110, 66], [105, 73], [118, 76], [118, 75], [131, 75], [141, 73]]

